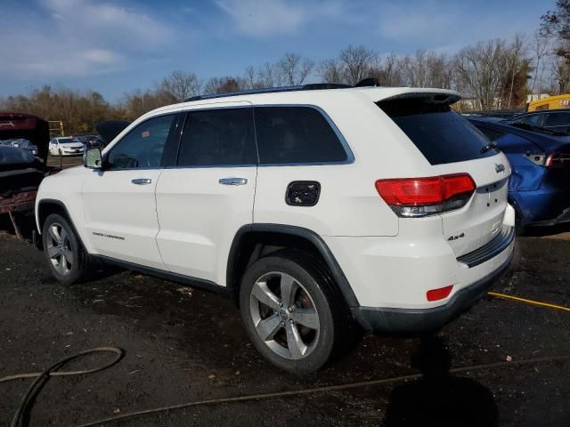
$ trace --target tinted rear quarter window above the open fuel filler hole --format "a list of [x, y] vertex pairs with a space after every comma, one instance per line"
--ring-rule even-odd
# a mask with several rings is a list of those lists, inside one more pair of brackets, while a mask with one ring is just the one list
[[256, 108], [256, 136], [262, 164], [346, 161], [346, 150], [322, 114], [310, 107]]

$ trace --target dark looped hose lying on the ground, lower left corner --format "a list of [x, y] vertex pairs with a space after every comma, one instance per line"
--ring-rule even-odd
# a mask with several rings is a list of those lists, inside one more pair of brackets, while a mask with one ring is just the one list
[[[112, 359], [110, 362], [102, 365], [101, 367], [94, 367], [93, 369], [85, 369], [82, 371], [58, 371], [60, 367], [63, 367], [66, 363], [70, 360], [81, 358], [87, 354], [93, 353], [100, 353], [100, 352], [110, 352], [115, 353], [116, 357]], [[18, 411], [14, 415], [12, 419], [12, 423], [10, 424], [11, 427], [17, 427], [20, 423], [20, 419], [22, 420], [22, 425], [28, 424], [28, 416], [29, 410], [31, 409], [31, 404], [36, 399], [37, 393], [42, 390], [42, 387], [45, 383], [49, 380], [51, 376], [69, 376], [69, 375], [85, 375], [85, 374], [93, 374], [95, 372], [102, 371], [103, 369], [107, 369], [108, 367], [112, 367], [115, 365], [120, 359], [123, 358], [125, 355], [125, 351], [119, 349], [118, 347], [98, 347], [96, 349], [80, 351], [76, 354], [72, 354], [66, 358], [60, 359], [55, 362], [51, 367], [48, 367], [43, 372], [34, 372], [31, 374], [20, 374], [20, 375], [10, 375], [5, 376], [4, 378], [0, 378], [0, 383], [19, 380], [23, 378], [36, 378], [36, 381], [32, 383], [28, 391], [24, 393], [24, 396], [21, 399], [20, 407], [18, 407]]]

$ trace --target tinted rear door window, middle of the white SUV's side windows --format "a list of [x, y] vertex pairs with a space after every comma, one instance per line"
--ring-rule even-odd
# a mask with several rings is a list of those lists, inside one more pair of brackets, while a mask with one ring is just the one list
[[188, 113], [179, 166], [256, 165], [253, 109]]

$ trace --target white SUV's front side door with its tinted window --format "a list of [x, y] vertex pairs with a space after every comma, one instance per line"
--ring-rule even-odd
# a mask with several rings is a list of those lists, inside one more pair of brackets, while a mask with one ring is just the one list
[[142, 122], [105, 152], [102, 170], [87, 175], [85, 229], [96, 254], [165, 270], [154, 192], [176, 126], [175, 114]]

